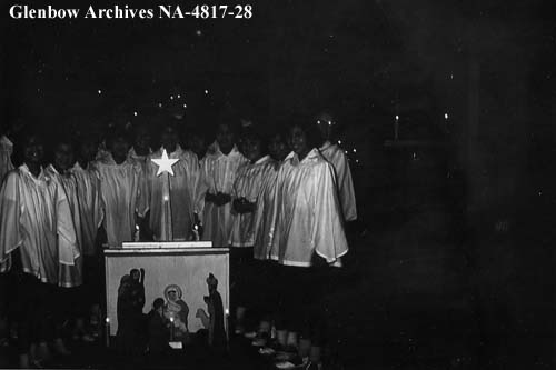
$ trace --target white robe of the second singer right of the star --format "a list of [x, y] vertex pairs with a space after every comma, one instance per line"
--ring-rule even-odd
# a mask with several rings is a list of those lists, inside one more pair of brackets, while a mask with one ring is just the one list
[[255, 203], [256, 210], [250, 213], [231, 211], [231, 232], [228, 244], [231, 247], [254, 247], [258, 239], [262, 219], [262, 210], [267, 207], [262, 192], [267, 187], [267, 172], [274, 171], [274, 162], [269, 156], [260, 158], [255, 163], [245, 163], [239, 168], [234, 188], [232, 199], [246, 198]]

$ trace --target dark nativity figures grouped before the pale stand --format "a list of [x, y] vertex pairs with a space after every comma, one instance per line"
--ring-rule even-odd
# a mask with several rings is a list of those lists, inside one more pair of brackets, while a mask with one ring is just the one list
[[[117, 300], [118, 330], [116, 346], [120, 353], [168, 353], [177, 343], [179, 348], [196, 343], [217, 351], [226, 349], [226, 317], [222, 298], [218, 292], [218, 279], [210, 272], [205, 279], [208, 296], [186, 297], [186, 284], [171, 283], [163, 289], [162, 297], [149, 301], [146, 308], [145, 269], [133, 268], [120, 279]], [[192, 294], [192, 292], [190, 292]], [[201, 294], [202, 292], [195, 292]], [[203, 307], [196, 309], [195, 318], [189, 318], [187, 300], [202, 299]], [[189, 330], [190, 320], [198, 320], [200, 329]], [[173, 346], [172, 346], [173, 344]], [[176, 348], [176, 347], [173, 347]]]

